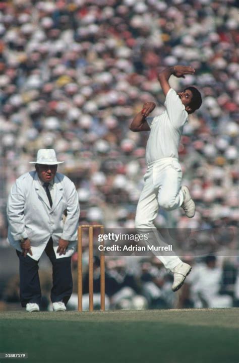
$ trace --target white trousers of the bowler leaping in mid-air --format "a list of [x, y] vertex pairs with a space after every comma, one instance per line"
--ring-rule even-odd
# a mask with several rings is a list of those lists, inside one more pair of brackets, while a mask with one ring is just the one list
[[[137, 230], [150, 229], [154, 235], [149, 244], [164, 246], [154, 225], [158, 208], [167, 211], [179, 208], [184, 200], [181, 190], [182, 168], [176, 158], [163, 158], [147, 165], [144, 187], [136, 210], [135, 227]], [[166, 245], [165, 245], [166, 246]], [[172, 256], [157, 256], [165, 268], [172, 270], [181, 263], [174, 253]]]

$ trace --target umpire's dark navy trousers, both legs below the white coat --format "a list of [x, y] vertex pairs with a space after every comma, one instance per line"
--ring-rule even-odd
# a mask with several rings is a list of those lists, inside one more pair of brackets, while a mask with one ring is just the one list
[[[50, 299], [52, 302], [63, 301], [66, 305], [73, 289], [71, 257], [56, 259], [51, 237], [46, 245], [45, 253], [52, 264], [53, 286], [50, 292]], [[26, 307], [28, 302], [36, 302], [39, 305], [41, 301], [41, 287], [38, 276], [39, 260], [33, 260], [29, 256], [24, 257], [19, 251], [17, 251], [17, 255], [19, 257], [20, 300], [22, 307]]]

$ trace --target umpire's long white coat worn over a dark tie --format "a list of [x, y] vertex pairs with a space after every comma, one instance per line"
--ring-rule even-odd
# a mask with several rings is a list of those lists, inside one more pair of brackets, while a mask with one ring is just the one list
[[[64, 223], [64, 210], [67, 218]], [[50, 236], [56, 258], [72, 256], [76, 248], [77, 227], [80, 215], [79, 198], [72, 181], [64, 174], [56, 173], [52, 207], [36, 171], [20, 176], [13, 185], [7, 206], [9, 221], [8, 240], [16, 250], [21, 251], [20, 239], [31, 241], [32, 257], [39, 260]], [[58, 240], [69, 240], [66, 255], [56, 253]]]

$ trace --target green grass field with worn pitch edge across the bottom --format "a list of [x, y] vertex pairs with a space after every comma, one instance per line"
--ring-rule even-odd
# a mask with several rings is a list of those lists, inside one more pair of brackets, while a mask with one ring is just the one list
[[0, 363], [238, 363], [239, 309], [1, 312]]

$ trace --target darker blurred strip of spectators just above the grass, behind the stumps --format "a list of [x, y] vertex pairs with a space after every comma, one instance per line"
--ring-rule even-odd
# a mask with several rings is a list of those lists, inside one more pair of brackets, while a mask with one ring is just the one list
[[[239, 307], [239, 276], [233, 263], [208, 255], [185, 259], [192, 266], [180, 293], [171, 290], [173, 276], [156, 258], [106, 258], [105, 309], [145, 310], [182, 308]], [[77, 310], [77, 256], [73, 257], [73, 294], [68, 310]], [[89, 310], [88, 257], [83, 254], [83, 310]], [[41, 310], [52, 310], [50, 303], [51, 272], [40, 269]], [[100, 260], [94, 256], [94, 310], [100, 309]], [[19, 277], [9, 280], [2, 295], [0, 310], [19, 308]], [[0, 300], [1, 302], [1, 300]], [[12, 308], [13, 309], [13, 308]]]

